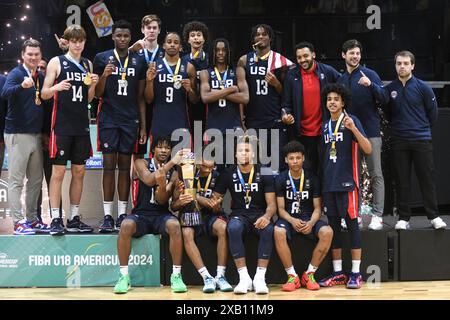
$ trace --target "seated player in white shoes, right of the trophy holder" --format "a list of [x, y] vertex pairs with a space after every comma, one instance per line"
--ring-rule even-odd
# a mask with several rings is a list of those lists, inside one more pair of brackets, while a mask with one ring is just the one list
[[[255, 289], [257, 294], [269, 293], [265, 275], [273, 248], [273, 223], [276, 198], [272, 172], [254, 164], [256, 140], [249, 136], [237, 142], [237, 165], [221, 174], [214, 197], [231, 193], [231, 218], [227, 225], [230, 251], [239, 272], [234, 293], [245, 294]], [[268, 172], [267, 172], [268, 171]], [[255, 277], [248, 274], [243, 236], [249, 232], [259, 236], [258, 263]]]

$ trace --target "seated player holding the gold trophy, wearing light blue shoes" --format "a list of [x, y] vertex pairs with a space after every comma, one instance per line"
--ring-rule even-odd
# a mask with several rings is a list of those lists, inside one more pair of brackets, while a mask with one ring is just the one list
[[[214, 170], [214, 161], [203, 159], [198, 170], [194, 187], [197, 189], [197, 203], [201, 208], [202, 224], [198, 226], [182, 225], [184, 248], [195, 268], [198, 270], [205, 283], [204, 293], [214, 292], [216, 287], [223, 292], [232, 291], [233, 288], [225, 278], [228, 239], [227, 219], [222, 211], [220, 198], [213, 198], [212, 193], [216, 186], [219, 173]], [[179, 190], [174, 192], [172, 209], [179, 211], [192, 203], [193, 198], [189, 194], [183, 194], [184, 185], [180, 181]], [[195, 238], [202, 234], [209, 237], [217, 237], [217, 275], [212, 278], [206, 269], [200, 251], [195, 243]]]

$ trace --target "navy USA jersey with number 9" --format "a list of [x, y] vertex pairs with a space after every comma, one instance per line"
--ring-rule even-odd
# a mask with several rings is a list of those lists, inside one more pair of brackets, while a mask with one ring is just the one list
[[[176, 87], [177, 81], [189, 79], [187, 66], [187, 61], [181, 62], [180, 70], [174, 76], [167, 70], [163, 60], [159, 59], [156, 61], [151, 127], [153, 136], [170, 136], [176, 129], [189, 128], [187, 92], [183, 87]], [[172, 73], [174, 73], [176, 65], [170, 66], [170, 68]]]

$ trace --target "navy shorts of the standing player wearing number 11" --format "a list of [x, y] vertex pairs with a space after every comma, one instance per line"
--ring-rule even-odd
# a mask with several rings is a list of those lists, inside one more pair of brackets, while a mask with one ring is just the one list
[[139, 123], [121, 124], [120, 126], [98, 126], [97, 150], [102, 153], [121, 153], [131, 155], [138, 139]]

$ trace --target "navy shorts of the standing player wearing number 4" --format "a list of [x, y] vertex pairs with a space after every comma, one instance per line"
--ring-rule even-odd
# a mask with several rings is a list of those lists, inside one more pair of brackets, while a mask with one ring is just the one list
[[358, 189], [344, 192], [324, 192], [323, 210], [327, 216], [358, 218]]

